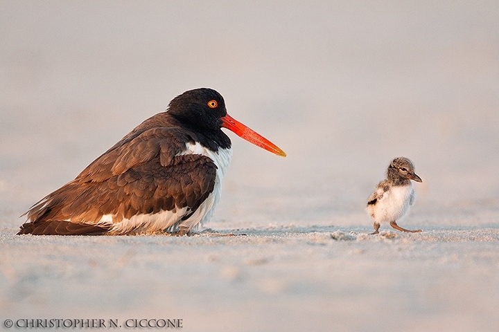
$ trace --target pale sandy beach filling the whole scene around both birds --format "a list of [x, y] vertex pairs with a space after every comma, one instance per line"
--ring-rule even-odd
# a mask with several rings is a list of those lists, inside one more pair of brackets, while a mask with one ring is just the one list
[[[0, 329], [498, 331], [498, 21], [496, 1], [0, 1]], [[201, 86], [288, 157], [228, 133], [198, 234], [15, 235]], [[399, 225], [423, 232], [370, 236], [398, 156], [423, 179]]]

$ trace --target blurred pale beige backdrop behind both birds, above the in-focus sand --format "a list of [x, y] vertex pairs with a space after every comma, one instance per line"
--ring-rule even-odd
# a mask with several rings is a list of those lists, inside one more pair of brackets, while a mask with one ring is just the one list
[[0, 222], [203, 86], [288, 153], [229, 133], [214, 225], [370, 225], [397, 156], [421, 223], [497, 222], [498, 22], [498, 1], [0, 1]]

